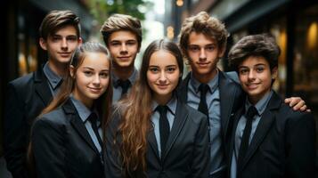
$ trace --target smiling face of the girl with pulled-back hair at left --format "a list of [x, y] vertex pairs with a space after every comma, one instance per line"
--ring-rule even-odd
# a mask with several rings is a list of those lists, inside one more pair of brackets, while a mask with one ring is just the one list
[[105, 53], [86, 53], [85, 59], [76, 70], [70, 67], [70, 75], [75, 77], [73, 95], [91, 108], [93, 101], [106, 91], [110, 83], [110, 61]]

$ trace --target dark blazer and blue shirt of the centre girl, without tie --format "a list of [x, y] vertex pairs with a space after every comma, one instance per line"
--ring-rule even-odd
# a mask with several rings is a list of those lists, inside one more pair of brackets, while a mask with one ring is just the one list
[[[167, 120], [170, 134], [164, 149], [161, 149], [159, 134], [158, 104], [153, 104], [151, 116], [152, 128], [147, 137], [146, 176], [154, 177], [208, 177], [208, 124], [207, 118], [200, 112], [182, 102], [173, 99], [167, 104]], [[119, 111], [114, 113], [109, 128], [106, 129], [105, 175], [106, 177], [123, 177], [118, 145], [113, 141], [120, 124]], [[119, 143], [120, 144], [120, 143]], [[134, 173], [132, 177], [144, 177], [143, 173]]]

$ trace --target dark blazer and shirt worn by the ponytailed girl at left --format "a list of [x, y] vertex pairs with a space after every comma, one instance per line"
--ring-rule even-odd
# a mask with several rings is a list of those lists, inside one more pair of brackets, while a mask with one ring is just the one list
[[[101, 122], [98, 131], [92, 112], [70, 97], [64, 104], [38, 117], [32, 127], [31, 145], [37, 178], [103, 176]], [[99, 135], [97, 135], [97, 133]]]

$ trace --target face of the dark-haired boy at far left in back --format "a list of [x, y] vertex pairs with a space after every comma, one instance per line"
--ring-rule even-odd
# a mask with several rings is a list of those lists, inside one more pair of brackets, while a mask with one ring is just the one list
[[47, 39], [40, 38], [39, 43], [47, 51], [50, 62], [67, 64], [77, 45], [81, 42], [81, 38], [77, 36], [76, 28], [69, 25], [47, 36]]

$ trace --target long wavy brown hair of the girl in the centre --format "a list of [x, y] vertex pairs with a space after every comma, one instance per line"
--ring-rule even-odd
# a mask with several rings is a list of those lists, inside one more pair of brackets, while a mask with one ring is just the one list
[[[126, 99], [118, 101], [115, 109], [121, 111], [122, 121], [118, 126], [117, 134], [121, 141], [116, 142], [122, 159], [125, 177], [146, 172], [147, 135], [151, 131], [151, 102], [152, 92], [147, 82], [147, 71], [152, 53], [159, 50], [167, 51], [175, 56], [180, 72], [183, 71], [183, 57], [178, 46], [167, 40], [153, 41], [143, 53], [143, 61], [139, 79], [133, 85]], [[180, 75], [179, 82], [182, 75]], [[176, 87], [175, 87], [176, 88]], [[141, 175], [139, 175], [141, 176]]]

